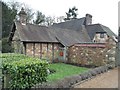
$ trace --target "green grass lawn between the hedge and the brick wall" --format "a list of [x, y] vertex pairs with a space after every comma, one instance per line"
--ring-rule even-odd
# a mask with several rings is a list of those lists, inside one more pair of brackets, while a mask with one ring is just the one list
[[50, 64], [49, 67], [50, 69], [54, 69], [56, 72], [48, 76], [48, 82], [54, 82], [65, 77], [80, 74], [89, 70], [88, 68], [77, 67], [64, 63]]

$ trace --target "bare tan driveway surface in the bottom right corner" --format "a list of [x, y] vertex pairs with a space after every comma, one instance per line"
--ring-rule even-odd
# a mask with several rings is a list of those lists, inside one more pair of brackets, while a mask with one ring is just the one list
[[75, 85], [74, 88], [118, 88], [118, 68]]

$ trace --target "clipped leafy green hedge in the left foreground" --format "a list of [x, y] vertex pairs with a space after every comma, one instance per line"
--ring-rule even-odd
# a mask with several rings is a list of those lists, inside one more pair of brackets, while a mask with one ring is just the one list
[[[3, 70], [9, 77], [7, 88], [28, 89], [47, 79], [48, 63], [38, 58], [25, 58], [3, 63]], [[6, 77], [7, 78], [7, 77]]]

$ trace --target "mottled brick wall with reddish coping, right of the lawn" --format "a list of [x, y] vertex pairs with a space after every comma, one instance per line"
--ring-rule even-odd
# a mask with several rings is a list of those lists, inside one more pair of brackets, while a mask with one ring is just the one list
[[108, 61], [105, 44], [76, 44], [68, 49], [68, 63], [101, 66]]

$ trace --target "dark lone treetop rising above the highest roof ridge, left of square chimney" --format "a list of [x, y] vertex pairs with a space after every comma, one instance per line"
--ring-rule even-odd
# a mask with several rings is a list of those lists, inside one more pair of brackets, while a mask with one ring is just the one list
[[71, 19], [76, 19], [77, 18], [77, 11], [78, 9], [74, 6], [73, 8], [69, 8], [68, 12], [66, 12], [67, 18], [64, 20], [71, 20]]

